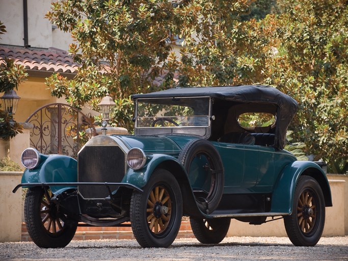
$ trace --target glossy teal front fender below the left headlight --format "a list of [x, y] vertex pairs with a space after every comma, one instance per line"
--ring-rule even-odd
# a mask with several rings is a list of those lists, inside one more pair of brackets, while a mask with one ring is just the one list
[[[26, 169], [21, 183], [77, 182], [77, 161], [65, 155], [48, 155], [35, 169]], [[26, 186], [29, 187], [29, 186]], [[61, 193], [72, 187], [50, 187], [53, 194]]]

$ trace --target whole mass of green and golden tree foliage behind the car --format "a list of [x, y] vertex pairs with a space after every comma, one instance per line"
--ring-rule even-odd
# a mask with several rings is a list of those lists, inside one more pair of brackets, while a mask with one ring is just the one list
[[[109, 92], [113, 123], [130, 129], [132, 93], [273, 85], [299, 102], [293, 138], [331, 170], [347, 171], [346, 0], [63, 0], [46, 17], [71, 32], [70, 53], [81, 64], [73, 80], [47, 80], [53, 95], [95, 107]], [[180, 55], [174, 38], [182, 40]]]

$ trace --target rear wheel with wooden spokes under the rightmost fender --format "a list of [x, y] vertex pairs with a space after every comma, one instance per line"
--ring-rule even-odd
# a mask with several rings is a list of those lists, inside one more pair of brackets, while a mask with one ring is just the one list
[[284, 217], [287, 236], [295, 246], [315, 246], [325, 225], [325, 201], [318, 182], [301, 176], [293, 196], [292, 214]]

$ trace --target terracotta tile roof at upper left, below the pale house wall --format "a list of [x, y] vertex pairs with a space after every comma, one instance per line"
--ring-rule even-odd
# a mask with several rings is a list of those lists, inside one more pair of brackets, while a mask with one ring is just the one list
[[28, 70], [76, 73], [79, 67], [66, 51], [53, 47], [38, 49], [0, 45], [0, 64], [1, 58], [5, 57], [13, 59]]

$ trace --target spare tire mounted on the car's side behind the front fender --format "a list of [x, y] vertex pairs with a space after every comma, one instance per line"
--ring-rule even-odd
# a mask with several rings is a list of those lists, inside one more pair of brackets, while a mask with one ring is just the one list
[[[207, 162], [202, 166], [196, 165], [202, 169], [191, 166], [196, 157], [200, 161], [203, 159], [202, 162]], [[193, 140], [182, 148], [178, 160], [188, 172], [190, 179], [193, 175], [210, 172], [209, 176], [207, 175], [207, 178], [210, 179], [208, 190], [203, 195], [195, 192], [194, 194], [197, 205], [203, 213], [210, 214], [215, 211], [224, 191], [224, 166], [216, 148], [207, 140]]]

